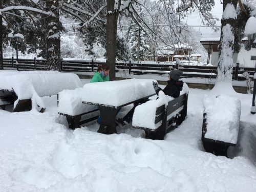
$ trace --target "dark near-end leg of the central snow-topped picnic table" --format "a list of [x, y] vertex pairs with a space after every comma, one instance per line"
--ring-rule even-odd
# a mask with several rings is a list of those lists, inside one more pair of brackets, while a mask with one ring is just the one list
[[99, 106], [101, 122], [98, 133], [114, 134], [116, 131], [116, 114], [117, 108], [110, 108], [108, 106]]

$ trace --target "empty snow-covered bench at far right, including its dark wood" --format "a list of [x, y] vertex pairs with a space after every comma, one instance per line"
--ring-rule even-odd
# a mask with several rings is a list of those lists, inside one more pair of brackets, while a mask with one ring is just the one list
[[206, 152], [227, 157], [229, 146], [236, 146], [241, 102], [226, 95], [204, 98], [202, 142]]

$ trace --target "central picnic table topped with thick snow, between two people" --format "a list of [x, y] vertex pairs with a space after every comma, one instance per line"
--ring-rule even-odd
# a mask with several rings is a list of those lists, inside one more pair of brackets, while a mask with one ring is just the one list
[[152, 81], [152, 79], [127, 79], [85, 84], [82, 103], [98, 106], [102, 118], [98, 132], [117, 133], [115, 120], [120, 108], [132, 103], [136, 106], [155, 95]]

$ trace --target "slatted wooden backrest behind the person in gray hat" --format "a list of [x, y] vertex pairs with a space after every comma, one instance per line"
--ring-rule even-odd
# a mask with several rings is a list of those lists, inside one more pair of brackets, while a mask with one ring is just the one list
[[187, 115], [187, 94], [180, 95], [179, 97], [168, 102], [165, 109], [165, 105], [161, 105], [156, 110], [155, 124], [161, 123], [159, 127], [163, 132], [168, 132], [185, 119]]

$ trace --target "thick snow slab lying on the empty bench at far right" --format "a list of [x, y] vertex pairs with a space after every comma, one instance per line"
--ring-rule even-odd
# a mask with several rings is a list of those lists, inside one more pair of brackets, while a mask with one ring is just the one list
[[226, 95], [203, 100], [207, 132], [205, 138], [236, 144], [240, 125], [241, 101]]

